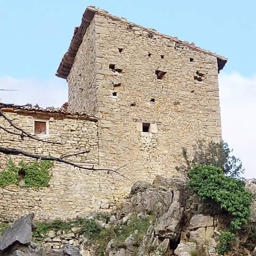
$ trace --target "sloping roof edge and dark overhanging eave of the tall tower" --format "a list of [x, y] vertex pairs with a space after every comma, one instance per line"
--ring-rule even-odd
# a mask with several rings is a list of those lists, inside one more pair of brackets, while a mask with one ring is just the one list
[[105, 16], [105, 17], [112, 18], [114, 20], [118, 20], [118, 21], [127, 23], [128, 25], [132, 25], [134, 27], [142, 28], [146, 31], [149, 31], [152, 34], [159, 35], [159, 36], [165, 37], [165, 38], [169, 38], [169, 39], [173, 40], [174, 42], [178, 42], [178, 43], [183, 44], [184, 46], [188, 46], [194, 50], [201, 51], [201, 52], [207, 53], [209, 55], [213, 55], [218, 60], [218, 69], [219, 70], [221, 70], [224, 67], [224, 65], [226, 64], [226, 62], [228, 60], [227, 58], [225, 58], [223, 56], [217, 55], [217, 54], [212, 53], [207, 50], [203, 50], [200, 47], [195, 46], [193, 43], [190, 44], [188, 42], [179, 40], [177, 37], [171, 37], [171, 36], [161, 34], [154, 29], [139, 26], [135, 23], [129, 22], [125, 18], [119, 18], [119, 17], [113, 16], [113, 15], [110, 15], [105, 10], [96, 9], [94, 6], [89, 6], [85, 9], [85, 11], [83, 13], [81, 25], [79, 27], [75, 27], [75, 29], [74, 29], [74, 34], [73, 34], [70, 46], [68, 48], [68, 51], [64, 54], [64, 56], [61, 60], [61, 63], [56, 72], [56, 76], [59, 76], [64, 79], [67, 78], [68, 74], [70, 73], [71, 67], [73, 65], [75, 55], [79, 49], [79, 46], [82, 44], [82, 37], [84, 36], [87, 27], [90, 25], [91, 20], [94, 17], [95, 13]]

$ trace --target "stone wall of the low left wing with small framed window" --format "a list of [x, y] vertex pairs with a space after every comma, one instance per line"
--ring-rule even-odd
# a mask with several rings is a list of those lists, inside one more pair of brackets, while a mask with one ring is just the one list
[[[13, 122], [33, 134], [35, 119], [49, 122], [49, 136], [40, 138], [60, 142], [60, 145], [37, 142], [26, 137], [7, 134], [0, 130], [1, 146], [60, 157], [90, 150], [89, 153], [65, 158], [82, 166], [98, 166], [97, 122], [86, 119], [65, 118], [57, 115], [6, 113]], [[0, 125], [12, 130], [2, 118]], [[20, 155], [10, 156], [16, 163], [32, 161]], [[5, 170], [9, 156], [0, 154], [0, 171]], [[86, 216], [101, 207], [101, 185], [99, 174], [70, 165], [54, 163], [52, 178], [47, 188], [25, 188], [10, 185], [0, 189], [0, 219], [16, 219], [28, 212], [35, 212], [38, 219], [72, 219], [77, 215]]]

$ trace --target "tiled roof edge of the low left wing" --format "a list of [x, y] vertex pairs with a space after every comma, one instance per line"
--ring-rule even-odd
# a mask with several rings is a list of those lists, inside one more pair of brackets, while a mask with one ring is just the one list
[[32, 106], [32, 104], [26, 104], [26, 105], [15, 105], [15, 104], [7, 104], [0, 102], [0, 109], [2, 111], [7, 112], [21, 112], [21, 113], [43, 113], [48, 115], [62, 115], [67, 118], [82, 118], [82, 119], [88, 119], [91, 121], [97, 121], [97, 117], [94, 115], [88, 115], [84, 112], [73, 112], [73, 111], [67, 111], [66, 108], [67, 104], [64, 103], [64, 105], [61, 108], [54, 108], [54, 107], [47, 107], [47, 108], [41, 108], [37, 104], [35, 106]]

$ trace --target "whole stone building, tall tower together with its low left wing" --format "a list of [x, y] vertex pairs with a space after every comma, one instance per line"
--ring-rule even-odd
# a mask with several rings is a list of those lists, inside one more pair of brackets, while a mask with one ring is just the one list
[[[57, 156], [89, 148], [90, 153], [70, 160], [121, 167], [126, 178], [55, 164], [49, 188], [2, 189], [0, 214], [35, 211], [37, 219], [67, 219], [111, 210], [134, 181], [180, 175], [175, 166], [183, 146], [221, 138], [218, 73], [226, 62], [193, 43], [88, 7], [56, 73], [68, 83], [68, 110], [5, 110], [32, 134], [40, 126], [35, 122], [43, 120], [46, 135], [65, 146], [17, 143], [0, 131], [2, 144]], [[3, 165], [6, 157], [0, 157]], [[18, 204], [14, 213], [10, 199]]]

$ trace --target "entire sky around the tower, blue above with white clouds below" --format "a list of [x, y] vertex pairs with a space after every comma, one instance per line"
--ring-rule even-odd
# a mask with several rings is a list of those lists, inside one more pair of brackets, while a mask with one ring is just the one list
[[[223, 137], [254, 176], [256, 160], [256, 1], [0, 1], [1, 101], [59, 106], [67, 86], [55, 77], [73, 28], [94, 5], [227, 57], [219, 76]], [[36, 102], [35, 102], [36, 101]]]

